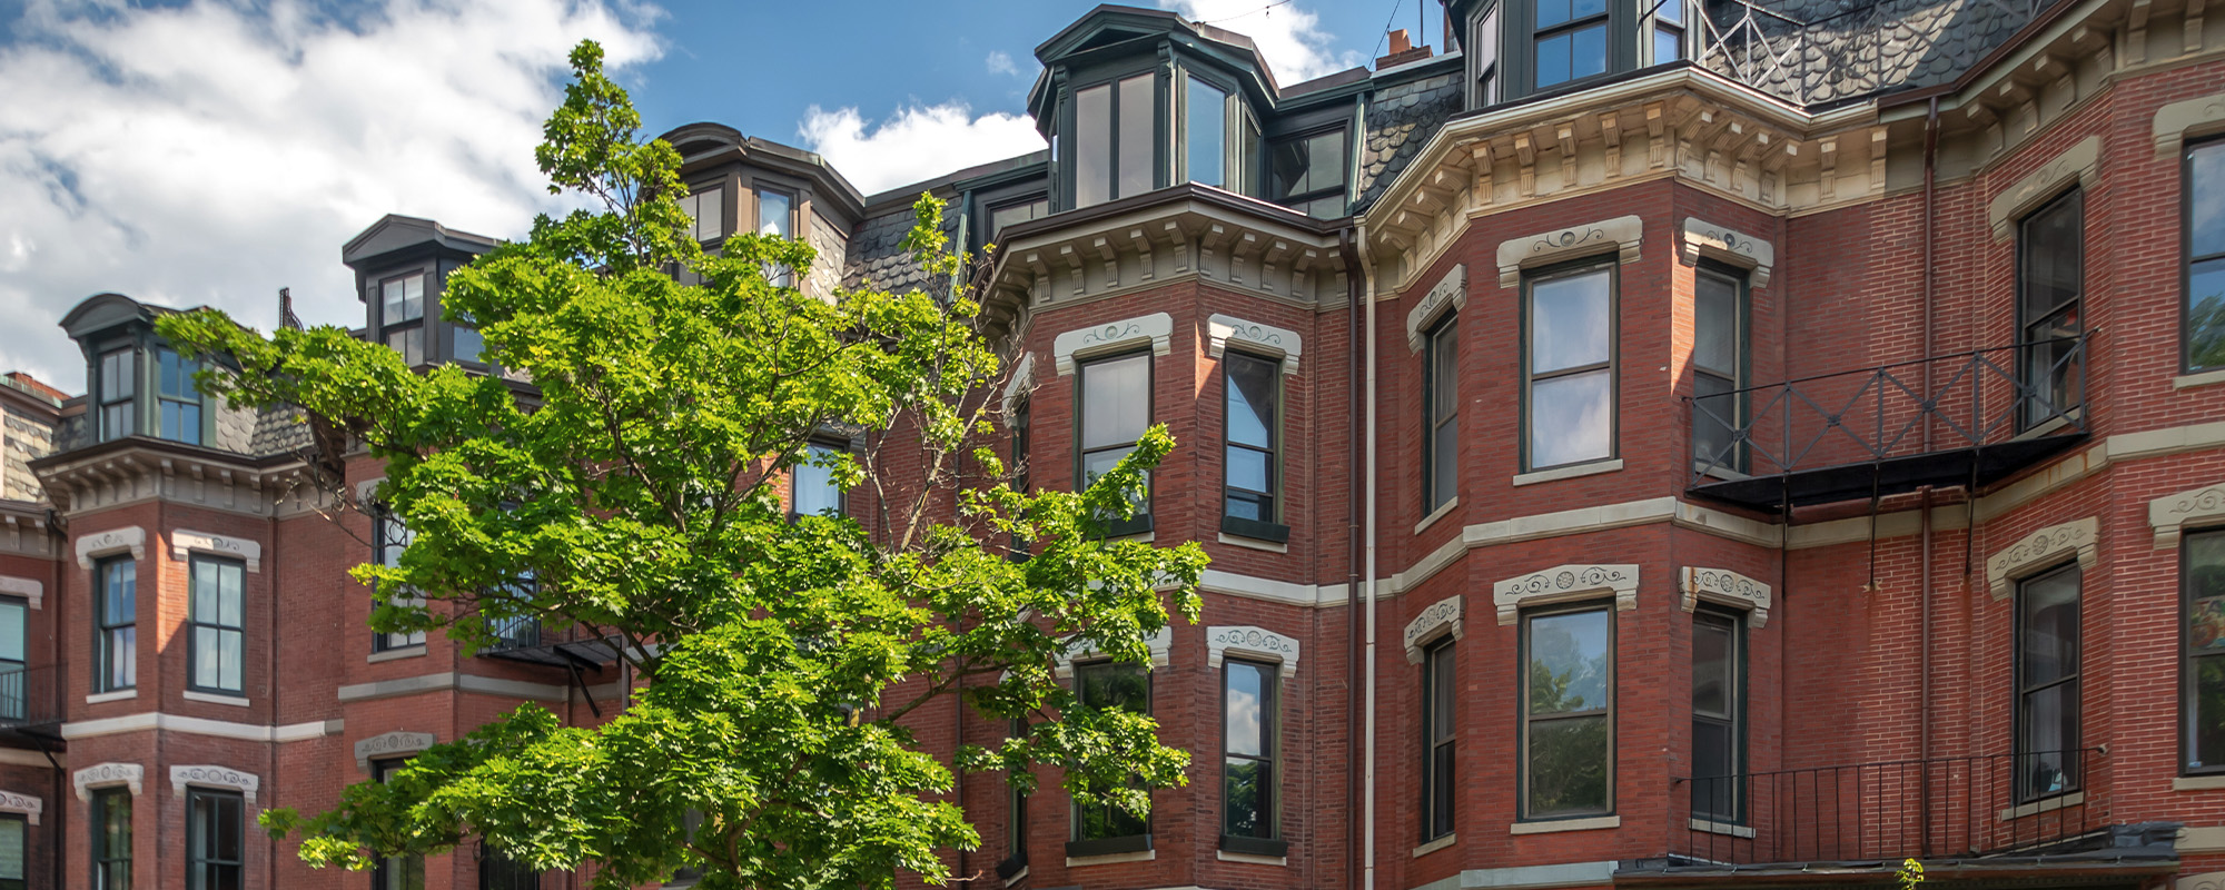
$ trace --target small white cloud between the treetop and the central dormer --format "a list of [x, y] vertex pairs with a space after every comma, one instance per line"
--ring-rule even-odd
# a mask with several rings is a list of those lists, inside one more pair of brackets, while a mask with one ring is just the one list
[[857, 109], [812, 105], [797, 134], [866, 194], [1044, 149], [1035, 118], [1003, 111], [975, 118], [966, 102], [910, 105], [881, 122]]

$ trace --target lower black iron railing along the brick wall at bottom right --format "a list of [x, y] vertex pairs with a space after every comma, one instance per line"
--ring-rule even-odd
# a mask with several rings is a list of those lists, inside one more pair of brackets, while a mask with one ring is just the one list
[[2107, 825], [2085, 805], [2098, 748], [1673, 779], [1671, 861], [1758, 866], [2063, 852]]

